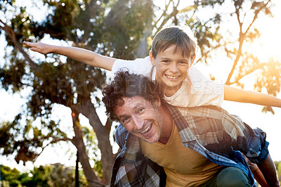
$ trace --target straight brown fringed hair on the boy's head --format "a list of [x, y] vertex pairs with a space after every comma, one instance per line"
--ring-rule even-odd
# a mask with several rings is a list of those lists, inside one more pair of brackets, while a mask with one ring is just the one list
[[182, 56], [193, 58], [197, 49], [197, 39], [188, 25], [166, 27], [160, 30], [152, 41], [152, 56], [165, 51], [171, 45], [176, 45], [174, 53], [181, 51]]

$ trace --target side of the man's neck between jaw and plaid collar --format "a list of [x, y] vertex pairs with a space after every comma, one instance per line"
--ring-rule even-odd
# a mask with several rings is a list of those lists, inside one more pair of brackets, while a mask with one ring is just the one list
[[171, 136], [171, 131], [173, 130], [173, 117], [171, 116], [171, 112], [169, 111], [169, 109], [163, 103], [159, 107], [159, 110], [162, 115], [163, 126], [158, 141], [160, 143], [166, 144]]

